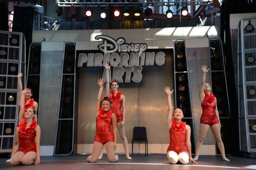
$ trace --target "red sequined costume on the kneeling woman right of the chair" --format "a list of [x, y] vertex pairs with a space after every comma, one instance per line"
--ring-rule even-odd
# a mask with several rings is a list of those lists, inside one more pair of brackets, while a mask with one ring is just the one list
[[172, 126], [169, 130], [170, 133], [170, 145], [167, 152], [172, 150], [179, 154], [182, 151], [189, 153], [189, 149], [186, 144], [186, 122], [175, 122], [172, 119]]

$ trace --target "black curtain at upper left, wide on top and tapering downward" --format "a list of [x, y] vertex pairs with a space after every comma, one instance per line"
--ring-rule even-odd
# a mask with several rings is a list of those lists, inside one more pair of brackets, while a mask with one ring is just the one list
[[14, 6], [12, 31], [22, 32], [26, 39], [26, 63], [29, 57], [29, 45], [32, 43], [34, 8]]

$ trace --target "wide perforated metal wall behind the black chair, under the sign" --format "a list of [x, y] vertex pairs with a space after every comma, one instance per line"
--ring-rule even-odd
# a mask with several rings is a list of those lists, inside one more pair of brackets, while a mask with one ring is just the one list
[[[119, 84], [119, 90], [125, 95], [126, 100], [125, 133], [128, 143], [131, 143], [132, 130], [135, 126], [146, 127], [149, 143], [169, 143], [166, 123], [168, 107], [163, 88], [168, 85], [173, 89], [173, 61], [172, 50], [165, 53], [165, 65], [143, 67], [142, 82]], [[96, 133], [96, 97], [99, 91], [96, 82], [102, 76], [103, 70], [79, 68], [78, 144], [93, 143]], [[122, 143], [118, 131], [117, 143]]]

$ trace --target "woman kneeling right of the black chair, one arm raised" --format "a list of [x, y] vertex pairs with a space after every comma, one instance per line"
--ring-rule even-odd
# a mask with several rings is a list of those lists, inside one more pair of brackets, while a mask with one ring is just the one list
[[[170, 145], [167, 149], [167, 158], [171, 164], [176, 164], [178, 161], [182, 164], [195, 163], [191, 155], [191, 142], [190, 135], [191, 129], [186, 122], [182, 122], [183, 111], [180, 108], [176, 108], [172, 112], [171, 91], [169, 87], [164, 88], [167, 94], [168, 101], [168, 115], [167, 123], [169, 126], [170, 133]], [[172, 116], [174, 119], [172, 119]]]

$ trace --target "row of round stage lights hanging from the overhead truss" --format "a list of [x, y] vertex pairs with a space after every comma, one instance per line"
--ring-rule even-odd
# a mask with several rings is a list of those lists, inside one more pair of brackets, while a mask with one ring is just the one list
[[[180, 12], [181, 12], [181, 15], [182, 15], [182, 16], [187, 16], [187, 15], [189, 14], [187, 7], [181, 8]], [[141, 7], [140, 7], [140, 6], [136, 6], [136, 7], [134, 8], [134, 13], [133, 13], [134, 16], [135, 16], [135, 17], [140, 17], [141, 13], [142, 13]], [[86, 16], [87, 18], [90, 18], [90, 17], [93, 16], [93, 10], [90, 9], [90, 8], [87, 8], [87, 10], [84, 12], [84, 14], [85, 14], [85, 16]], [[113, 11], [113, 16], [114, 16], [114, 17], [120, 17], [121, 14], [122, 14], [123, 16], [125, 16], [125, 17], [130, 16], [130, 15], [131, 15], [131, 11], [130, 11], [130, 9], [129, 9], [129, 6], [125, 6], [125, 8], [124, 8], [123, 11], [121, 11], [119, 8], [115, 8], [115, 9], [114, 9], [114, 11]], [[147, 8], [145, 8], [145, 10], [144, 10], [144, 14], [145, 14], [145, 16], [149, 17], [151, 14], [153, 14], [153, 11], [152, 11], [151, 8], [147, 7]], [[107, 17], [106, 12], [102, 11], [101, 14], [100, 14], [100, 17], [101, 17], [102, 19], [105, 19], [105, 18]], [[166, 17], [169, 18], [169, 19], [173, 17], [173, 12], [172, 12], [172, 10], [168, 9], [168, 10], [166, 11]]]

